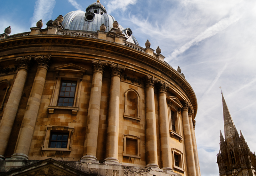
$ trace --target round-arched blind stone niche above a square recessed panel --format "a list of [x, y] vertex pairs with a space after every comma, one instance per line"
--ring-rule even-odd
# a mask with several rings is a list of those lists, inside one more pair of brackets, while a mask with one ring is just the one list
[[140, 121], [140, 95], [135, 89], [130, 88], [126, 90], [124, 97], [124, 117]]

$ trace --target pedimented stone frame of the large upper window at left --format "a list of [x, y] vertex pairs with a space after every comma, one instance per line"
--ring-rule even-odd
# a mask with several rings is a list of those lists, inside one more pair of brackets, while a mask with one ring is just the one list
[[[72, 110], [73, 115], [77, 115], [79, 110], [80, 94], [82, 89], [83, 75], [86, 73], [86, 69], [79, 67], [75, 64], [65, 64], [54, 67], [55, 78], [57, 79], [54, 84], [53, 93], [48, 110], [50, 114], [54, 113], [54, 109], [67, 109]], [[76, 92], [73, 106], [58, 106], [60, 87], [62, 81], [76, 81]]]

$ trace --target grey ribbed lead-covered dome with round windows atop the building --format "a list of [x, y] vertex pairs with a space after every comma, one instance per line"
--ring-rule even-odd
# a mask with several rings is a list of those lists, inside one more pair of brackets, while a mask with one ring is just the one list
[[[100, 26], [104, 23], [106, 26], [106, 32], [109, 32], [113, 27], [115, 18], [107, 14], [105, 7], [97, 3], [93, 3], [86, 8], [84, 11], [71, 11], [64, 16], [62, 25], [65, 29], [69, 30], [85, 30], [85, 31], [95, 31], [100, 30]], [[120, 24], [118, 26], [128, 42], [135, 45], [139, 45], [138, 41], [132, 35], [132, 30], [130, 28], [123, 28]]]

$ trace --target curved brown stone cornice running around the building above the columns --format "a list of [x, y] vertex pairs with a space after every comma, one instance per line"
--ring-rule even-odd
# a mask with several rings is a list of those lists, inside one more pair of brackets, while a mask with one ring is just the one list
[[[148, 67], [155, 69], [161, 74], [169, 77], [173, 82], [175, 82], [180, 88], [187, 94], [190, 102], [193, 105], [194, 116], [197, 112], [197, 100], [195, 92], [189, 85], [188, 81], [185, 80], [176, 70], [174, 70], [170, 65], [161, 60], [138, 50], [137, 48], [132, 48], [122, 44], [117, 44], [115, 42], [110, 42], [95, 38], [86, 38], [78, 36], [68, 36], [68, 35], [27, 35], [8, 39], [0, 40], [0, 52], [24, 48], [24, 47], [42, 47], [51, 45], [51, 47], [72, 47], [72, 48], [83, 48], [90, 49], [94, 51], [101, 51], [104, 53], [111, 53], [117, 56], [122, 56], [124, 58], [134, 60], [136, 62], [142, 63]], [[46, 51], [46, 53], [58, 53], [58, 51]], [[31, 51], [33, 53], [33, 51]], [[63, 53], [63, 52], [61, 52]], [[65, 52], [64, 52], [65, 53]], [[79, 53], [82, 55], [88, 55], [87, 53]], [[95, 53], [96, 54], [96, 53]], [[31, 55], [31, 54], [29, 54]], [[94, 55], [95, 56], [95, 55]], [[104, 57], [100, 56], [99, 57]], [[76, 57], [77, 58], [77, 57]], [[108, 58], [109, 59], [109, 58]], [[112, 59], [112, 58], [111, 58]], [[118, 60], [120, 63], [121, 60]], [[127, 64], [127, 62], [125, 62]], [[150, 73], [146, 70], [146, 73], [151, 75], [156, 75], [156, 73]]]

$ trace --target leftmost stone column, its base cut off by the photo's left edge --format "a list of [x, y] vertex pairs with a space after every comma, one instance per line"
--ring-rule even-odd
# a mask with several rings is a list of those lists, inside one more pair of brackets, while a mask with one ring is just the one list
[[5, 159], [4, 153], [6, 151], [12, 126], [19, 108], [20, 98], [28, 75], [28, 64], [30, 60], [31, 56], [16, 57], [16, 61], [20, 62], [18, 66], [18, 73], [0, 123], [0, 160]]

